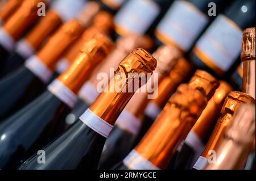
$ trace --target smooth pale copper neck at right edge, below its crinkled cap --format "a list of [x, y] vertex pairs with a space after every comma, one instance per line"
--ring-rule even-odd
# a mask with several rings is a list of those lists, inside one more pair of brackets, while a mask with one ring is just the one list
[[243, 61], [242, 91], [255, 99], [255, 60]]

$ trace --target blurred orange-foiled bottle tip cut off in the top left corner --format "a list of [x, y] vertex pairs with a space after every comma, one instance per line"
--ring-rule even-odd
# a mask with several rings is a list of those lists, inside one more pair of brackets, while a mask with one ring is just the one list
[[0, 10], [0, 26], [18, 9], [22, 0], [10, 0], [3, 4]]

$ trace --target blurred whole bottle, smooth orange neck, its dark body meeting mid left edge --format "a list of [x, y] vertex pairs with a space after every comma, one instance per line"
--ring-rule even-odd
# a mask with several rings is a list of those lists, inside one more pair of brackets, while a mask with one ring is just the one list
[[64, 24], [23, 66], [0, 81], [0, 119], [19, 110], [45, 89], [64, 50], [84, 31], [76, 21]]

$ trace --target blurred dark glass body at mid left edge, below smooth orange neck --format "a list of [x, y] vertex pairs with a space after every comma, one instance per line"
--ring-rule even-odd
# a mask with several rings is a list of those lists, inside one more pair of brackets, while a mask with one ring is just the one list
[[0, 120], [10, 116], [46, 90], [46, 85], [25, 66], [0, 81]]

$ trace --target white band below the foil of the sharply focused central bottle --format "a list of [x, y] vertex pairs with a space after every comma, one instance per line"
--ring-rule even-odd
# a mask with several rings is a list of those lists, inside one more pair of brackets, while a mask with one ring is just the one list
[[113, 125], [101, 119], [100, 116], [96, 115], [89, 108], [79, 117], [79, 119], [105, 138], [108, 138], [109, 133], [113, 128]]

